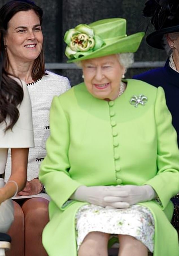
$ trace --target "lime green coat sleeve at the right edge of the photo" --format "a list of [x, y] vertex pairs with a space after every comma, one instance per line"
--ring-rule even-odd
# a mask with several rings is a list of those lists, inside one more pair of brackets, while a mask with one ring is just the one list
[[172, 117], [166, 106], [165, 94], [158, 87], [155, 102], [155, 119], [157, 134], [157, 166], [155, 177], [147, 181], [156, 191], [162, 208], [179, 191], [179, 150], [177, 134], [172, 125]]

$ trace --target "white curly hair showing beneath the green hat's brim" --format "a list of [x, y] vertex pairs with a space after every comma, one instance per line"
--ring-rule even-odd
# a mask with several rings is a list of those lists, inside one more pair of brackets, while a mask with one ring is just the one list
[[[129, 68], [134, 63], [134, 53], [118, 53], [116, 54], [119, 60], [119, 63], [125, 68], [125, 72], [127, 68]], [[76, 61], [75, 64], [82, 68], [81, 61]]]

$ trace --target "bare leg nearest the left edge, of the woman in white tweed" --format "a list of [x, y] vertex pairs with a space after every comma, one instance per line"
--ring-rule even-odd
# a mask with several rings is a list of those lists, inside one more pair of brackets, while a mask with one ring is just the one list
[[14, 222], [8, 231], [12, 242], [10, 251], [6, 251], [6, 256], [24, 256], [24, 213], [17, 202], [13, 201], [13, 204]]

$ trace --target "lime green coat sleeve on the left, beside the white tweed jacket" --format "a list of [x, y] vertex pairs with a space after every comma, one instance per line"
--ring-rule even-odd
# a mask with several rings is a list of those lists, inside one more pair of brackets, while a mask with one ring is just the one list
[[47, 194], [64, 210], [64, 203], [81, 184], [69, 174], [68, 149], [70, 144], [69, 121], [62, 109], [60, 97], [53, 98], [50, 108], [50, 136], [47, 139], [47, 155], [41, 166], [39, 179]]

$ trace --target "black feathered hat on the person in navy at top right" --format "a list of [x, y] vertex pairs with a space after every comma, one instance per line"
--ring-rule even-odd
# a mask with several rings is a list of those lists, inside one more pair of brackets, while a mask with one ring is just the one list
[[147, 36], [147, 43], [154, 48], [164, 49], [163, 35], [179, 32], [179, 1], [149, 0], [145, 3], [143, 15], [152, 17], [151, 24], [156, 30]]

